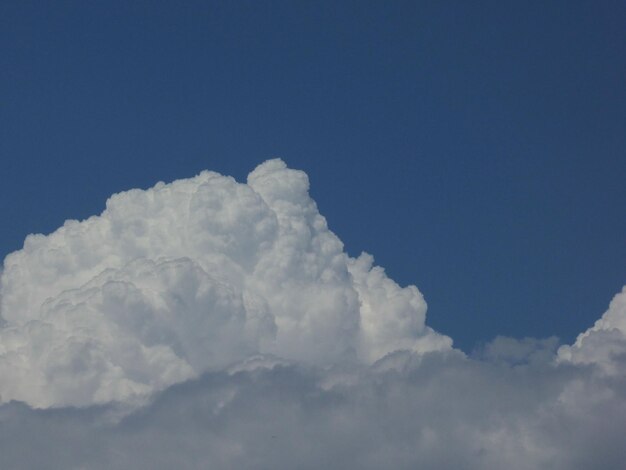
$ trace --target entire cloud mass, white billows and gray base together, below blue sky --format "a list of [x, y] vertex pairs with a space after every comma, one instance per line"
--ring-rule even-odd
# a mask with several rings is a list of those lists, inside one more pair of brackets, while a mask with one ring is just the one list
[[467, 357], [417, 288], [343, 252], [280, 160], [114, 195], [0, 279], [7, 468], [626, 461], [626, 288], [571, 346]]

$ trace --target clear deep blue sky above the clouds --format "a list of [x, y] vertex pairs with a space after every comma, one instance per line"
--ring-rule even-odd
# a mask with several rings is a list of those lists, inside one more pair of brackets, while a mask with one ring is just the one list
[[0, 3], [0, 255], [114, 192], [266, 158], [458, 346], [626, 283], [626, 4]]

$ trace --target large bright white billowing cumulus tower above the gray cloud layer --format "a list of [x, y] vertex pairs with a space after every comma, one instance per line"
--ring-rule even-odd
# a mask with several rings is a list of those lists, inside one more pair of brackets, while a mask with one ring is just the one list
[[30, 235], [0, 280], [0, 395], [34, 406], [127, 401], [255, 354], [314, 365], [445, 350], [414, 286], [352, 259], [270, 160], [112, 196]]

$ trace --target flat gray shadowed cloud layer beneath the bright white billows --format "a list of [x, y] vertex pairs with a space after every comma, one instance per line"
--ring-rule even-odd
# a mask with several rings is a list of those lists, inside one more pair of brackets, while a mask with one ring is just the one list
[[130, 414], [6, 404], [0, 453], [7, 468], [619, 469], [625, 400], [624, 377], [594, 367], [397, 352], [207, 373]]

